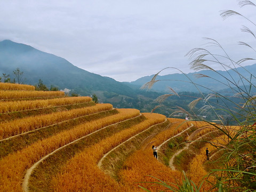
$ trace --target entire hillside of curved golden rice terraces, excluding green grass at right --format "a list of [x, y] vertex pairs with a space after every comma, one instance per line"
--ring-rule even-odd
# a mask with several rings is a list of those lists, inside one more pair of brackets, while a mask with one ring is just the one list
[[[139, 185], [157, 191], [164, 188], [149, 183], [153, 177], [175, 183], [185, 170], [199, 183], [209, 172], [205, 147], [214, 148], [203, 142], [186, 148], [188, 141], [215, 134], [205, 122], [108, 103], [80, 105], [93, 101], [30, 85], [0, 83], [0, 90], [0, 191], [145, 191]], [[77, 107], [63, 108], [69, 105]], [[220, 134], [212, 141], [222, 145], [227, 139]], [[159, 146], [158, 159], [153, 145]], [[184, 156], [177, 155], [171, 166], [182, 149]], [[188, 162], [189, 151], [194, 155]]]

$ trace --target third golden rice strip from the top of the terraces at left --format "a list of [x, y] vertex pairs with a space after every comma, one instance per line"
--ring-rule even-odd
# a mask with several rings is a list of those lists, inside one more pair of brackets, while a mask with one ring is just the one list
[[0, 101], [0, 113], [39, 109], [92, 101], [91, 97], [65, 97], [34, 101]]

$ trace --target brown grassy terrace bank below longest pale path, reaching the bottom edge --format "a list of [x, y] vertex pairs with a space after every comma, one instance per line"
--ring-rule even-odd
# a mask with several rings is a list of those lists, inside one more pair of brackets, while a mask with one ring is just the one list
[[[140, 114], [137, 117], [108, 125], [100, 130], [94, 131], [82, 138], [68, 143], [67, 145], [53, 151], [49, 155], [46, 155], [27, 171], [25, 179], [22, 183], [23, 191], [29, 191], [30, 189], [32, 191], [36, 191], [38, 189], [41, 191], [49, 191], [49, 183], [51, 183], [52, 177], [54, 177], [59, 170], [61, 170], [61, 167], [65, 166], [69, 159], [71, 159], [75, 154], [79, 153], [79, 151], [82, 151], [84, 148], [90, 147], [94, 143], [110, 137], [121, 130], [128, 129], [130, 126], [138, 124], [144, 120], [145, 117]], [[31, 174], [31, 172], [33, 172], [33, 174]], [[47, 175], [47, 177], [45, 177], [45, 175]], [[32, 184], [29, 185], [29, 183]]]

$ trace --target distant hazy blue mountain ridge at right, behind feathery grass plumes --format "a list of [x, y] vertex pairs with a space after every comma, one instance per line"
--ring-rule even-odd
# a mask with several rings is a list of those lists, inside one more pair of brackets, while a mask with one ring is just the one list
[[[153, 85], [152, 89], [156, 91], [166, 92], [168, 91], [167, 86], [169, 86], [176, 92], [181, 92], [181, 91], [198, 92], [197, 88], [200, 89], [202, 92], [211, 92], [211, 90], [213, 91], [225, 90], [227, 89], [228, 84], [232, 87], [233, 86], [235, 87], [235, 84], [237, 84], [238, 86], [243, 86], [243, 84], [249, 85], [249, 82], [246, 81], [245, 79], [248, 79], [250, 81], [251, 77], [248, 71], [250, 71], [250, 73], [252, 74], [255, 74], [254, 71], [256, 71], [256, 64], [251, 66], [245, 66], [244, 68], [238, 67], [235, 70], [237, 70], [238, 73], [241, 74], [242, 76], [239, 76], [233, 69], [230, 69], [228, 71], [218, 70], [217, 72], [219, 74], [211, 70], [202, 70], [199, 72], [189, 73], [189, 74], [177, 73], [177, 74], [170, 74], [170, 75], [163, 75], [163, 76], [158, 75], [156, 80], [161, 80], [161, 81], [156, 82]], [[197, 78], [195, 76], [196, 74], [204, 74], [211, 78], [209, 77]], [[227, 79], [222, 77], [220, 74], [229, 79], [233, 78], [234, 84], [228, 82]], [[131, 84], [142, 86], [143, 84], [149, 82], [153, 77], [154, 75], [141, 77], [136, 81], [131, 82]], [[241, 81], [242, 77], [243, 77], [243, 82]], [[255, 78], [252, 78], [252, 83], [256, 84]]]

